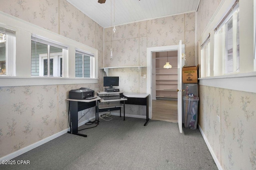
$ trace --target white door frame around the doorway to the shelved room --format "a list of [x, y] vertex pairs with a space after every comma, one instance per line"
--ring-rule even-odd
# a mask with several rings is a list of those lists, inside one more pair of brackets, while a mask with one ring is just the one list
[[[148, 116], [152, 119], [152, 53], [153, 52], [161, 52], [161, 51], [170, 51], [170, 50], [178, 50], [179, 45], [168, 45], [168, 46], [161, 46], [161, 47], [148, 47], [147, 48], [147, 93], [149, 95], [148, 100]], [[185, 45], [182, 44], [182, 53], [184, 53]], [[183, 64], [182, 60], [182, 64]]]

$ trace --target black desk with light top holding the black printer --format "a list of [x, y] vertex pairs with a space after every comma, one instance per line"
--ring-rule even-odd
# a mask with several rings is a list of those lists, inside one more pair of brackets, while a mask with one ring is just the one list
[[67, 99], [70, 104], [70, 131], [68, 133], [87, 137], [87, 135], [78, 133], [78, 111], [88, 109], [95, 106], [95, 119], [99, 120], [97, 101], [100, 100], [98, 96], [90, 100], [76, 100], [76, 99]]

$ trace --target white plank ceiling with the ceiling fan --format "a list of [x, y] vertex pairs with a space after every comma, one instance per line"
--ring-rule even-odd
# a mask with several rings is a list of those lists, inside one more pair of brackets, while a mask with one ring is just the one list
[[200, 0], [106, 0], [104, 4], [100, 4], [98, 0], [66, 1], [104, 28], [114, 24], [122, 25], [195, 12], [200, 2]]

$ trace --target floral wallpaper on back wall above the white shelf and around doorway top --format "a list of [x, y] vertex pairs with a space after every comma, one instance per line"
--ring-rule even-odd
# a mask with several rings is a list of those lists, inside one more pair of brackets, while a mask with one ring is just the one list
[[[186, 65], [195, 65], [195, 13], [181, 14], [106, 28], [104, 67], [146, 66], [147, 47], [185, 44]], [[113, 58], [110, 58], [112, 48]]]

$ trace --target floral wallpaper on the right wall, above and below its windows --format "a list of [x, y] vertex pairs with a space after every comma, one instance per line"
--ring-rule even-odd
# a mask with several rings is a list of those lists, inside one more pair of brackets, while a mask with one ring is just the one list
[[[198, 38], [220, 2], [200, 1]], [[210, 86], [200, 86], [199, 94], [198, 124], [222, 169], [256, 170], [256, 94]]]

